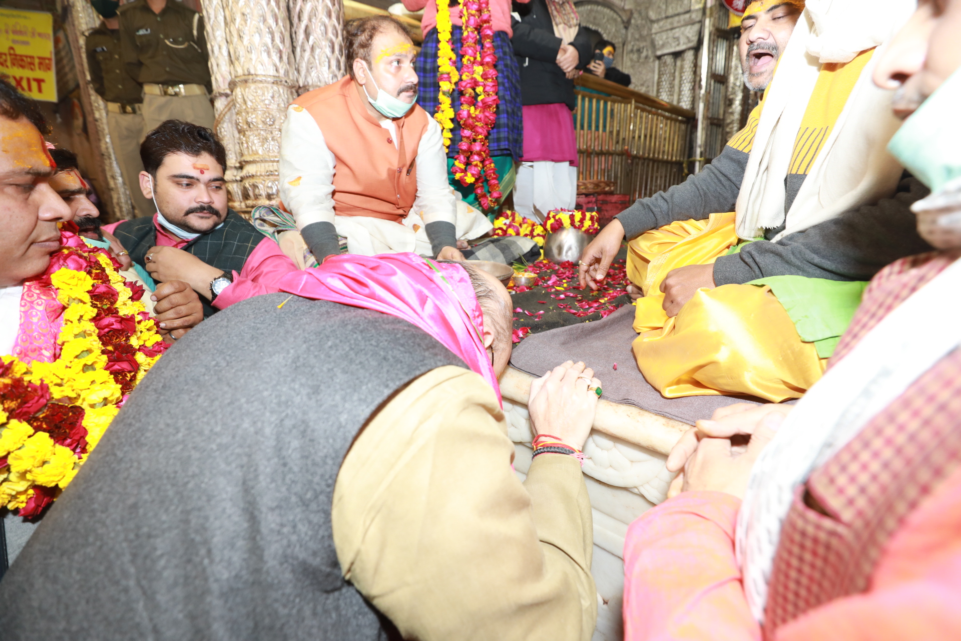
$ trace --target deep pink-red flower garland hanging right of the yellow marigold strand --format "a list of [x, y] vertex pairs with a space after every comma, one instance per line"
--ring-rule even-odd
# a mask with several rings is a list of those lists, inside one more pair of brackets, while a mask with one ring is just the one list
[[496, 205], [503, 197], [487, 146], [487, 136], [497, 121], [500, 103], [490, 0], [465, 0], [461, 6], [461, 22], [460, 82], [457, 83], [460, 89], [457, 150], [460, 153], [454, 160], [454, 177], [461, 185], [473, 184], [480, 207], [489, 210], [491, 200]]

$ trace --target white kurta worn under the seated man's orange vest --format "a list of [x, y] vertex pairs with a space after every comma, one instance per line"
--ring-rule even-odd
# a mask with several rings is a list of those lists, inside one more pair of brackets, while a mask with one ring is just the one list
[[[392, 120], [381, 126], [398, 146]], [[453, 223], [458, 239], [469, 240], [493, 228], [480, 211], [456, 197], [447, 182], [447, 155], [440, 125], [431, 118], [417, 146], [417, 196], [402, 224], [370, 216], [338, 216], [333, 210], [333, 174], [336, 159], [324, 134], [307, 110], [287, 109], [281, 134], [281, 200], [297, 229], [311, 223], [333, 223], [337, 234], [347, 238], [351, 254], [373, 256], [391, 252], [432, 255], [425, 225], [434, 221]], [[299, 178], [299, 180], [297, 180]]]

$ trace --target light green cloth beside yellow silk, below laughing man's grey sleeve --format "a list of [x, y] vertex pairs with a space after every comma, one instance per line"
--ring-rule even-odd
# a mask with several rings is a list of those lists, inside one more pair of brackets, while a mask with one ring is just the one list
[[770, 276], [747, 284], [771, 287], [801, 340], [814, 343], [822, 358], [834, 354], [868, 286], [866, 281], [828, 281], [803, 276]]

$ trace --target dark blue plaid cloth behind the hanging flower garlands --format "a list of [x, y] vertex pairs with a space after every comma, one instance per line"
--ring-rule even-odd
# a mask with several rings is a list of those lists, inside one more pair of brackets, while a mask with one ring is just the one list
[[[462, 29], [454, 26], [451, 31], [451, 44], [456, 55], [456, 65], [460, 68], [460, 35]], [[490, 131], [488, 147], [491, 156], [512, 156], [520, 160], [524, 153], [524, 116], [521, 111], [521, 76], [517, 59], [510, 46], [510, 38], [503, 31], [494, 32], [494, 51], [497, 53], [497, 86], [501, 103], [497, 108], [497, 122]], [[437, 84], [437, 30], [431, 29], [424, 38], [424, 46], [414, 62], [417, 77], [420, 79], [417, 103], [431, 115], [437, 111], [440, 86]], [[454, 91], [451, 96], [454, 111], [460, 109], [460, 94]], [[460, 126], [454, 122], [454, 137], [448, 158], [457, 155], [460, 142]]]

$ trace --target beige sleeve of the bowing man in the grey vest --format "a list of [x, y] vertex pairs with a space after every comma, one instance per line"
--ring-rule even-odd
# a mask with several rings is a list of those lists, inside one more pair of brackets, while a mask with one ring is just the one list
[[333, 489], [344, 576], [406, 639], [588, 641], [593, 526], [574, 456], [522, 483], [494, 391], [445, 366], [402, 388], [357, 435]]

